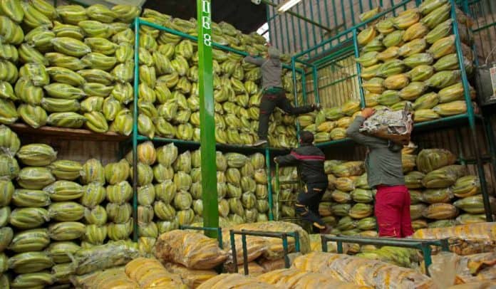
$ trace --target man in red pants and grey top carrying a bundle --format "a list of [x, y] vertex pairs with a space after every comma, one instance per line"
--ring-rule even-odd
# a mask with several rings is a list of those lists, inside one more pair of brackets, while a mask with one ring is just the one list
[[401, 164], [400, 144], [370, 135], [359, 129], [375, 110], [366, 108], [346, 131], [355, 142], [366, 145], [366, 169], [368, 185], [377, 189], [375, 214], [379, 236], [405, 238], [413, 234], [410, 219], [410, 194], [405, 186]]

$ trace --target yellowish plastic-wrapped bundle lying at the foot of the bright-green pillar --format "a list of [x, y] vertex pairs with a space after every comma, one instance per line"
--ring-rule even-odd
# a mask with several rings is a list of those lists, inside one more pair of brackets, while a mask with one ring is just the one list
[[160, 235], [155, 243], [155, 257], [191, 269], [211, 269], [224, 263], [227, 253], [215, 239], [202, 233], [174, 230]]

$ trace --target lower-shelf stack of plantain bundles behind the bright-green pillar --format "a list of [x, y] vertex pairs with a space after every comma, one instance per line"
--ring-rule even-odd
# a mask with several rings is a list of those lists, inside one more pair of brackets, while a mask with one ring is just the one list
[[[126, 159], [132, 164], [132, 152]], [[269, 203], [264, 156], [217, 152], [216, 159], [221, 224], [267, 221]], [[109, 166], [105, 167], [105, 174], [112, 175]], [[180, 153], [174, 144], [157, 148], [152, 142], [138, 145], [138, 230], [145, 253], [150, 253], [150, 244], [153, 246], [159, 234], [203, 221], [200, 166], [200, 149]], [[130, 177], [133, 178], [132, 170]], [[109, 206], [118, 203], [115, 196], [123, 196], [111, 195], [115, 189], [110, 190], [110, 187], [107, 186], [109, 219], [112, 218]], [[125, 194], [123, 198], [127, 199], [121, 200], [122, 205], [116, 207], [116, 211], [131, 209], [130, 196]], [[129, 219], [129, 215], [126, 217]]]

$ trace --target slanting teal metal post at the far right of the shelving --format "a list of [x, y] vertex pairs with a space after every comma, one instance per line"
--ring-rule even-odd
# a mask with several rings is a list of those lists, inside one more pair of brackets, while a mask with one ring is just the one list
[[465, 102], [467, 103], [467, 115], [468, 124], [470, 126], [470, 133], [472, 137], [472, 142], [474, 146], [475, 159], [477, 159], [477, 174], [480, 179], [480, 188], [482, 190], [482, 200], [484, 201], [484, 211], [486, 215], [486, 221], [492, 222], [492, 209], [489, 199], [489, 193], [487, 192], [487, 183], [485, 179], [484, 165], [482, 164], [482, 158], [480, 157], [480, 147], [477, 142], [477, 131], [475, 127], [475, 113], [472, 107], [472, 100], [470, 99], [470, 85], [468, 84], [467, 72], [465, 71], [464, 56], [462, 52], [462, 42], [460, 41], [460, 34], [458, 33], [458, 19], [456, 17], [456, 3], [455, 0], [450, 0], [451, 4], [451, 18], [453, 19], [453, 32], [455, 33], [455, 46], [458, 55], [458, 66], [462, 73], [462, 83], [464, 89]]

